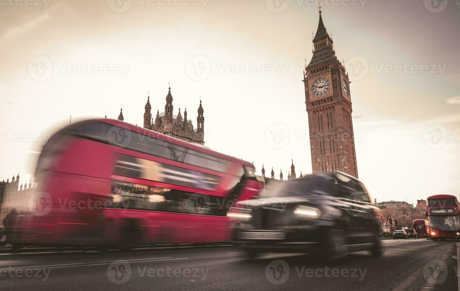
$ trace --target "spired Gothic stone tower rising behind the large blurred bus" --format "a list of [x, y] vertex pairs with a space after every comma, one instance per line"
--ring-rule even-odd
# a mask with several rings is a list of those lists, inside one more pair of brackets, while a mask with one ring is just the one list
[[201, 100], [200, 106], [198, 107], [198, 117], [196, 118], [198, 123], [196, 129], [193, 128], [192, 121], [187, 119], [187, 108], [184, 110], [184, 118], [182, 118], [180, 108], [178, 115], [173, 115], [173, 95], [171, 94], [171, 87], [169, 87], [168, 94], [166, 95], [165, 111], [160, 113], [157, 110], [155, 120], [152, 119], [150, 96], [147, 97], [147, 103], [144, 108], [144, 128], [172, 136], [179, 140], [204, 145], [204, 110], [201, 106]]

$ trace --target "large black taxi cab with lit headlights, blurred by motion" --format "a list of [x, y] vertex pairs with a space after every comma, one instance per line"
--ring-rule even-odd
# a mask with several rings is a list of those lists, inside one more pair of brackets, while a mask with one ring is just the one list
[[348, 252], [380, 256], [379, 208], [362, 183], [342, 172], [280, 182], [269, 197], [240, 201], [228, 212], [233, 240], [249, 257], [260, 252]]

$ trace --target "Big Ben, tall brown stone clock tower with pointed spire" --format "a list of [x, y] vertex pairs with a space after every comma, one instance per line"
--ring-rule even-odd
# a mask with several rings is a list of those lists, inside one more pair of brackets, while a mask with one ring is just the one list
[[339, 170], [358, 178], [350, 81], [335, 56], [334, 43], [322, 22], [313, 39], [313, 56], [305, 67], [305, 104], [310, 128], [313, 172]]

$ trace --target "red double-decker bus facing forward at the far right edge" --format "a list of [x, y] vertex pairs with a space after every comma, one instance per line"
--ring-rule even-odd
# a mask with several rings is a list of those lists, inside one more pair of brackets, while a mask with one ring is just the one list
[[460, 239], [460, 204], [452, 195], [435, 195], [427, 198], [430, 237], [433, 241]]

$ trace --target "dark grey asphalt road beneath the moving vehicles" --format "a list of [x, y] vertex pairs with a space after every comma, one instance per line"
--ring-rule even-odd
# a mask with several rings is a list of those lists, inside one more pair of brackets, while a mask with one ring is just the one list
[[[0, 254], [2, 290], [457, 290], [454, 241], [383, 240], [382, 257], [267, 253], [231, 246]], [[120, 261], [122, 260], [122, 261]], [[5, 269], [6, 268], [6, 269]]]

